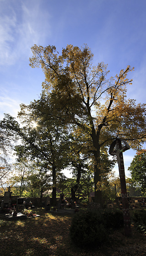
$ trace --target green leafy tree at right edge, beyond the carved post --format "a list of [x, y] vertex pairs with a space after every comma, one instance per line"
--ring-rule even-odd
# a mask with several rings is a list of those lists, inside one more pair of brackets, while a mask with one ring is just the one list
[[141, 186], [141, 191], [146, 192], [146, 149], [142, 149], [136, 153], [130, 167], [132, 181]]

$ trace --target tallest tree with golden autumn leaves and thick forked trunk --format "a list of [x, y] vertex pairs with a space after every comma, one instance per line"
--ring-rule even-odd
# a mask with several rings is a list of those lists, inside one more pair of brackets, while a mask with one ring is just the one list
[[119, 75], [108, 79], [109, 71], [103, 62], [93, 66], [93, 53], [68, 45], [58, 55], [55, 46], [32, 48], [31, 67], [41, 65], [45, 74], [43, 88], [55, 94], [54, 101], [64, 110], [68, 122], [76, 124], [89, 134], [94, 154], [95, 201], [102, 203], [100, 150], [117, 135], [131, 141], [132, 147], [146, 140], [146, 105], [126, 100], [126, 86], [130, 66], [121, 69]]

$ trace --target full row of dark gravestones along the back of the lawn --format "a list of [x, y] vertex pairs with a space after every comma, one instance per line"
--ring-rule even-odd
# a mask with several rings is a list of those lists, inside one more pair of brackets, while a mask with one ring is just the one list
[[[0, 216], [6, 219], [26, 219], [27, 217], [38, 217], [39, 215], [33, 214], [35, 208], [44, 208], [45, 212], [56, 214], [71, 214], [78, 213], [79, 209], [98, 210], [100, 206], [94, 202], [94, 193], [89, 196], [88, 204], [85, 206], [82, 203], [72, 202], [70, 198], [64, 197], [63, 192], [60, 197], [57, 197], [57, 205], [52, 205], [52, 197], [16, 197], [12, 196], [10, 187], [5, 192], [4, 197], [0, 197]], [[130, 210], [146, 209], [146, 197], [127, 197]], [[107, 200], [105, 209], [120, 209], [122, 210], [122, 196], [116, 197], [114, 201]]]

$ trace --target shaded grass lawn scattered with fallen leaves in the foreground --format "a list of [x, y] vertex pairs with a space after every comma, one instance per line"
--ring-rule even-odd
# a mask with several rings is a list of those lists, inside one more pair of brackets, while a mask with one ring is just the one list
[[124, 229], [110, 234], [101, 248], [81, 250], [72, 244], [69, 227], [72, 216], [58, 216], [37, 210], [40, 217], [8, 221], [0, 219], [0, 256], [146, 256], [146, 235], [132, 226], [132, 237]]

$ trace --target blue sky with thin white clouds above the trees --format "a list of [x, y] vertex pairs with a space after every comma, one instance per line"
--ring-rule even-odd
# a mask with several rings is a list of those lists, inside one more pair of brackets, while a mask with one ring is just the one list
[[[19, 105], [42, 91], [42, 69], [29, 66], [32, 45], [55, 45], [61, 53], [84, 43], [110, 75], [134, 66], [127, 97], [146, 103], [146, 0], [0, 0], [0, 119], [16, 117]], [[135, 154], [124, 153], [126, 176]]]

